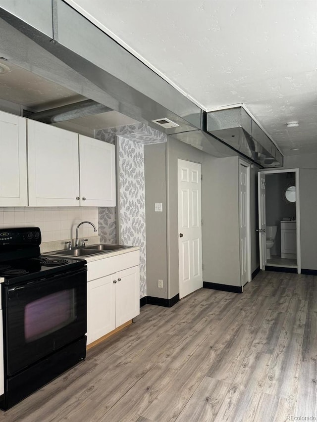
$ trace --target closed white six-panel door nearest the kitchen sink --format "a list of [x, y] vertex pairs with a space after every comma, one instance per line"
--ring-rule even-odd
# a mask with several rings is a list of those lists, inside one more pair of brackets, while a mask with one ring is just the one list
[[178, 160], [179, 297], [203, 287], [201, 165]]

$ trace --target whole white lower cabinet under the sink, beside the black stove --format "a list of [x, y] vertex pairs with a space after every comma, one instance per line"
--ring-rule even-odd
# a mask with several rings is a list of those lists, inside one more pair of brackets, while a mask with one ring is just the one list
[[[124, 268], [129, 265], [133, 266]], [[139, 315], [139, 252], [88, 262], [87, 267], [87, 344], [90, 344]], [[106, 275], [107, 270], [113, 269], [119, 271]], [[105, 275], [98, 277], [102, 273]]]

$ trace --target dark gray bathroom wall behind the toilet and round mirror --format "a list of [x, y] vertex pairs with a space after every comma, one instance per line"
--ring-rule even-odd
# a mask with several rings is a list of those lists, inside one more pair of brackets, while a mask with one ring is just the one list
[[265, 177], [265, 199], [266, 199], [266, 224], [277, 226], [277, 233], [274, 246], [271, 249], [272, 255], [281, 256], [281, 226], [283, 218], [296, 217], [296, 204], [283, 199], [285, 187], [289, 182], [295, 181], [295, 173], [289, 178], [289, 173], [267, 174]]

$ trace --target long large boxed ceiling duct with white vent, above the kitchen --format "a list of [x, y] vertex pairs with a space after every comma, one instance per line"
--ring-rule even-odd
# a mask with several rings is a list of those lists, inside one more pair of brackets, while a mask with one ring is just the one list
[[200, 107], [64, 1], [0, 0], [0, 18], [12, 63], [166, 134], [200, 129]]

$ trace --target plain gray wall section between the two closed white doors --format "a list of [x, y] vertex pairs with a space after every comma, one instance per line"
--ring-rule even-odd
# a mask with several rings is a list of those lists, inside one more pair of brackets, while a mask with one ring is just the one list
[[204, 155], [204, 281], [241, 285], [238, 174], [238, 157]]

